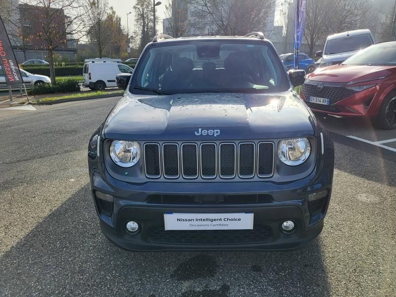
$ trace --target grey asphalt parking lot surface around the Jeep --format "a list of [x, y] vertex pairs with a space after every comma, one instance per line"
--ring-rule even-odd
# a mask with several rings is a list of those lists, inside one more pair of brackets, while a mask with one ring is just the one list
[[318, 116], [336, 168], [308, 247], [136, 253], [101, 234], [89, 189], [87, 143], [118, 100], [0, 110], [0, 296], [396, 296], [396, 131]]

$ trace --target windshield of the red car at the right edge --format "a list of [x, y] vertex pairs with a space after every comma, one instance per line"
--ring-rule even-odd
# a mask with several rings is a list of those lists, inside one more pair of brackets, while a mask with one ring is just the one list
[[383, 43], [363, 49], [347, 59], [344, 64], [374, 66], [396, 65], [396, 43]]

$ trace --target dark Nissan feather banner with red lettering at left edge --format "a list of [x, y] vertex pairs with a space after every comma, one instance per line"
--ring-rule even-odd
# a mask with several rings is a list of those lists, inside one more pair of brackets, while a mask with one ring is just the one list
[[21, 72], [16, 62], [14, 51], [12, 50], [7, 31], [0, 17], [0, 65], [4, 72], [5, 82], [9, 86], [22, 85]]

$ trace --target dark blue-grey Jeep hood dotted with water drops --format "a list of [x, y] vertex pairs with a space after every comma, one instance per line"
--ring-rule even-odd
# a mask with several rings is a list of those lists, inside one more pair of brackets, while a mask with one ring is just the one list
[[[127, 94], [108, 115], [104, 136], [151, 141], [273, 139], [313, 135], [314, 127], [310, 111], [292, 92]], [[219, 131], [203, 135], [203, 130]]]

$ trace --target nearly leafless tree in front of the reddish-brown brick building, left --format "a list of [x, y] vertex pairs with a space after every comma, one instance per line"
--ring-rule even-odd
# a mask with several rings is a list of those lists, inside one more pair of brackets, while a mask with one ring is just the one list
[[55, 84], [54, 49], [66, 48], [68, 41], [85, 33], [83, 0], [23, 0], [19, 12], [29, 18], [36, 47], [48, 51], [49, 74]]

